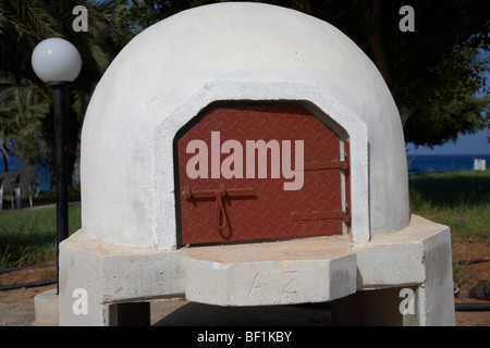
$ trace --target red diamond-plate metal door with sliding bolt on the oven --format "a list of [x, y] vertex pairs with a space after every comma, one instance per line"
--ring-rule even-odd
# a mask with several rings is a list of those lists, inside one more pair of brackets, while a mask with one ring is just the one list
[[344, 144], [306, 109], [216, 107], [197, 120], [176, 139], [181, 245], [342, 233]]

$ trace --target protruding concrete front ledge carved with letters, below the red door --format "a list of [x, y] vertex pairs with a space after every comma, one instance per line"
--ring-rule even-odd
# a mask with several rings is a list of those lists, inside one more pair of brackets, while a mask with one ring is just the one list
[[324, 302], [356, 290], [356, 256], [345, 240], [313, 238], [192, 248], [187, 300], [218, 306]]

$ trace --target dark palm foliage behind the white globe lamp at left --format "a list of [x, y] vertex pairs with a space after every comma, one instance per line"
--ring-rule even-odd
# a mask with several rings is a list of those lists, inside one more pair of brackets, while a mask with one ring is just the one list
[[[73, 9], [83, 5], [87, 9], [88, 30], [75, 32]], [[101, 75], [133, 34], [120, 33], [118, 28], [117, 1], [78, 0], [2, 0], [0, 1], [0, 74], [13, 78], [19, 86], [36, 89], [52, 109], [48, 87], [35, 75], [30, 55], [35, 46], [49, 37], [62, 37], [71, 41], [81, 52], [83, 66], [78, 78], [72, 84], [69, 96], [69, 164], [72, 167], [76, 153], [78, 133], [85, 114], [86, 101]], [[1, 87], [0, 87], [1, 88]], [[83, 105], [74, 112], [73, 104]], [[53, 123], [50, 111], [39, 112], [36, 122], [45, 140], [46, 154], [50, 163], [51, 183], [56, 185], [53, 170]], [[10, 113], [7, 117], [13, 117]], [[5, 120], [4, 120], [5, 121]], [[4, 126], [12, 123], [3, 122]], [[12, 129], [5, 132], [12, 134]], [[3, 132], [4, 134], [7, 134]], [[73, 141], [72, 141], [73, 140]], [[19, 141], [17, 141], [19, 142]], [[2, 141], [2, 150], [7, 142]], [[70, 182], [70, 181], [69, 181]]]

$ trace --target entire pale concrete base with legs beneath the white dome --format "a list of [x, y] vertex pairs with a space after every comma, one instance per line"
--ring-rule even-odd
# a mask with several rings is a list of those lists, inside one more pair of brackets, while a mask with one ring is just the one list
[[146, 324], [147, 302], [172, 297], [241, 307], [331, 301], [341, 324], [454, 325], [450, 229], [414, 215], [366, 243], [322, 236], [159, 251], [78, 231], [60, 246], [60, 325]]

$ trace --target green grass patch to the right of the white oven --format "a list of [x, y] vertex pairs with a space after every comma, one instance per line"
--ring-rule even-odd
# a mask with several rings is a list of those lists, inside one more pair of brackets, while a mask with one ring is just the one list
[[452, 235], [490, 238], [490, 171], [409, 176], [411, 210], [444, 224]]

